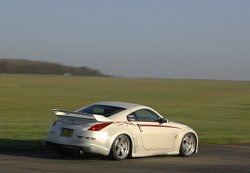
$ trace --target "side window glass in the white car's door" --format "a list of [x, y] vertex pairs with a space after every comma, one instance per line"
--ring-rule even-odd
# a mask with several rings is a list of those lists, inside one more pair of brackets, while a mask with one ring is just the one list
[[137, 121], [159, 122], [160, 119], [160, 117], [156, 113], [148, 109], [138, 110], [134, 114]]

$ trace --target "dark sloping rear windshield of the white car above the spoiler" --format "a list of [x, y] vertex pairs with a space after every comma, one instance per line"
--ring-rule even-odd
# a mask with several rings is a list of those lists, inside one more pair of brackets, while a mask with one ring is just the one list
[[77, 112], [79, 113], [87, 113], [87, 114], [97, 114], [103, 115], [105, 117], [109, 117], [118, 112], [125, 110], [125, 108], [116, 107], [116, 106], [108, 106], [108, 105], [91, 105], [86, 108], [83, 108]]

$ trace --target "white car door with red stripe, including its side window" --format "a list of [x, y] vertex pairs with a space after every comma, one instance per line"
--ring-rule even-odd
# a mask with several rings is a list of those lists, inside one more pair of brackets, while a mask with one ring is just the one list
[[173, 129], [167, 123], [160, 123], [160, 116], [149, 109], [134, 112], [146, 150], [168, 150], [173, 146]]

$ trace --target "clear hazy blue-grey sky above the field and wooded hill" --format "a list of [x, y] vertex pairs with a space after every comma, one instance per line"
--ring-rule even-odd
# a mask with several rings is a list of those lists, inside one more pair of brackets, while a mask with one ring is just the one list
[[250, 0], [0, 0], [0, 58], [250, 80]]

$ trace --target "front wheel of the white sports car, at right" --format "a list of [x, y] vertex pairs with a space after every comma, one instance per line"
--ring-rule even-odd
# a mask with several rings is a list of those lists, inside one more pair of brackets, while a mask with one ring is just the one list
[[182, 141], [180, 147], [180, 155], [183, 157], [191, 156], [196, 149], [196, 138], [193, 133], [186, 134]]

